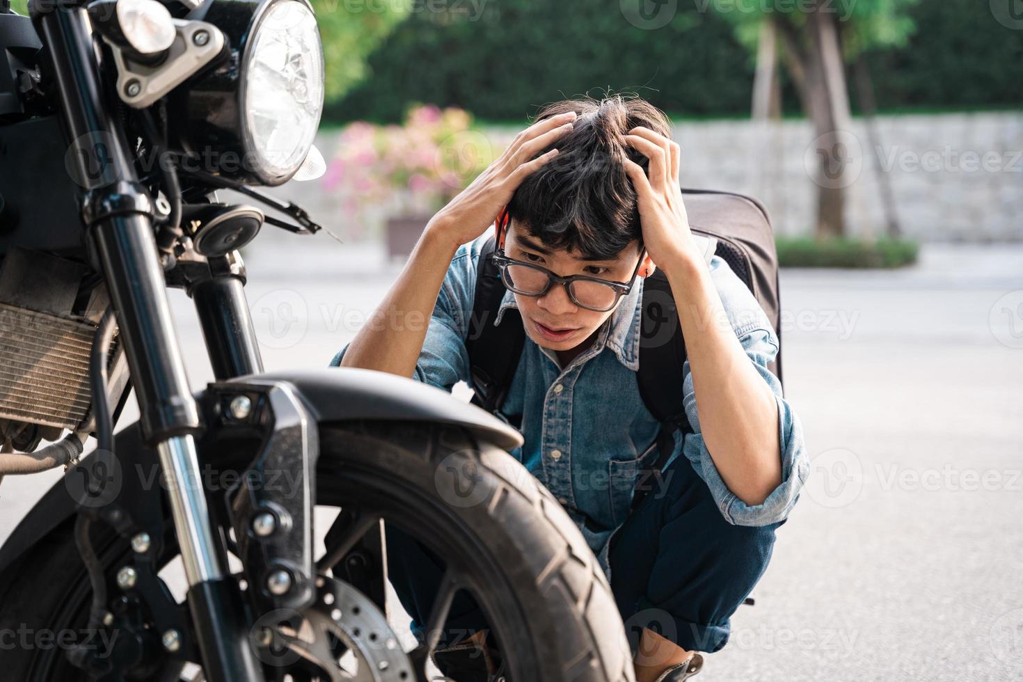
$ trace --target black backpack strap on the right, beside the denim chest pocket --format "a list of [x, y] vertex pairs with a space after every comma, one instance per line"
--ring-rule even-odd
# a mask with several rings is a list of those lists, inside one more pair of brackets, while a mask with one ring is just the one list
[[657, 435], [658, 454], [636, 478], [632, 496], [635, 509], [653, 488], [654, 473], [667, 463], [674, 450], [674, 433], [691, 433], [682, 402], [682, 365], [685, 339], [671, 285], [660, 269], [643, 280], [642, 315], [639, 326], [639, 395], [651, 414], [661, 422]]

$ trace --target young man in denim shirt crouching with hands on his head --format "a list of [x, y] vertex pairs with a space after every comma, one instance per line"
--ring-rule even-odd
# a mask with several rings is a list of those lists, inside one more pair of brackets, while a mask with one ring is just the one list
[[[525, 440], [513, 455], [577, 521], [623, 620], [641, 633], [639, 682], [691, 677], [697, 651], [725, 644], [808, 471], [799, 421], [767, 369], [777, 337], [742, 281], [690, 232], [679, 157], [667, 118], [641, 99], [548, 106], [430, 221], [376, 311], [382, 320], [415, 311], [429, 325], [366, 325], [333, 362], [448, 391], [471, 381], [463, 339], [480, 251], [506, 208], [513, 286], [499, 315], [517, 308], [527, 339], [500, 414]], [[656, 268], [685, 338], [678, 391], [691, 430], [676, 434], [659, 489], [632, 510], [629, 484], [660, 427], [635, 380], [642, 278]], [[592, 485], [596, 472], [610, 485]], [[429, 586], [402, 565], [428, 559], [391, 535], [392, 582], [414, 619], [415, 594]]]

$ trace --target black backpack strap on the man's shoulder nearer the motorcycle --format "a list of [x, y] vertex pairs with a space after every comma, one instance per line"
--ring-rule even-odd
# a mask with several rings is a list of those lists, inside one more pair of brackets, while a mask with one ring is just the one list
[[476, 392], [473, 403], [488, 412], [495, 411], [504, 402], [526, 342], [522, 316], [515, 308], [505, 310], [501, 323], [494, 326], [497, 310], [507, 291], [493, 262], [494, 248], [495, 240], [491, 236], [480, 253], [473, 315], [465, 337], [473, 390]]

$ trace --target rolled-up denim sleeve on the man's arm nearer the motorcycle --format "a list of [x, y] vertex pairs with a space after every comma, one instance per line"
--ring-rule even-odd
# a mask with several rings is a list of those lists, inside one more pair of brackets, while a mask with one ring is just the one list
[[[411, 377], [448, 392], [458, 381], [468, 382], [470, 378], [464, 339], [476, 287], [476, 256], [469, 243], [461, 245], [451, 260]], [[341, 365], [350, 345], [346, 344], [333, 357], [332, 366]]]

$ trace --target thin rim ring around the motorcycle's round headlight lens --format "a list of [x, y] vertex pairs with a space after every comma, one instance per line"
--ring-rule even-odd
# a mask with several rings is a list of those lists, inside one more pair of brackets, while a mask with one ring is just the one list
[[314, 26], [316, 26], [316, 46], [317, 49], [314, 50], [312, 55], [318, 61], [319, 73], [321, 77], [325, 73], [325, 63], [323, 58], [323, 42], [319, 34], [319, 27], [316, 25], [316, 12], [309, 0], [265, 0], [261, 2], [256, 8], [255, 13], [252, 16], [252, 20], [246, 31], [244, 44], [241, 45], [241, 60], [238, 67], [238, 92], [237, 92], [237, 106], [238, 106], [238, 126], [239, 126], [239, 136], [241, 140], [242, 148], [244, 149], [246, 156], [251, 158], [249, 164], [250, 170], [258, 177], [258, 179], [266, 185], [275, 186], [287, 182], [292, 176], [298, 173], [299, 168], [302, 167], [302, 163], [305, 160], [306, 154], [309, 153], [309, 147], [312, 146], [313, 140], [316, 136], [316, 131], [319, 129], [319, 123], [323, 116], [323, 104], [324, 104], [324, 88], [320, 87], [320, 96], [317, 106], [317, 112], [314, 122], [311, 125], [311, 134], [309, 135], [308, 141], [304, 144], [305, 149], [303, 149], [302, 154], [298, 161], [293, 164], [293, 168], [285, 169], [284, 173], [273, 173], [269, 171], [263, 164], [263, 158], [261, 157], [262, 150], [257, 148], [255, 137], [249, 126], [249, 108], [248, 108], [248, 95], [249, 95], [249, 79], [248, 74], [250, 71], [251, 62], [256, 53], [256, 43], [259, 37], [260, 28], [263, 26], [264, 20], [270, 12], [270, 9], [276, 5], [282, 3], [297, 2], [303, 5], [309, 14], [313, 17]]

